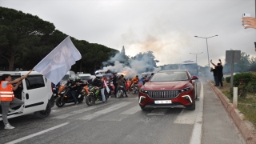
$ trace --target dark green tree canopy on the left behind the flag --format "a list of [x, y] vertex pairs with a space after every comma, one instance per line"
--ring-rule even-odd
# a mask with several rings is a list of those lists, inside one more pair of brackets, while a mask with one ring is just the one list
[[[31, 70], [67, 37], [53, 23], [22, 11], [0, 7], [0, 70]], [[91, 73], [118, 50], [70, 37], [82, 55], [71, 70]], [[93, 68], [91, 68], [93, 67]]]

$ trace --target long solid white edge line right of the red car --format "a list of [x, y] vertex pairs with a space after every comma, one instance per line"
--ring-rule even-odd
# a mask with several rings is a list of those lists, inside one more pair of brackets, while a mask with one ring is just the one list
[[200, 91], [200, 100], [197, 101], [200, 103], [200, 106], [198, 107], [198, 111], [200, 111], [200, 114], [198, 114], [197, 119], [194, 123], [194, 129], [190, 138], [190, 144], [201, 144], [201, 138], [202, 138], [202, 110], [203, 110], [203, 86], [201, 82], [201, 91]]

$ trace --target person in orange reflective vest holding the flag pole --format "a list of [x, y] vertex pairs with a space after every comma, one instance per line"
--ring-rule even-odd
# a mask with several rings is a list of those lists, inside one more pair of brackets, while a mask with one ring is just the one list
[[[0, 83], [0, 101], [2, 106], [2, 122], [5, 125], [5, 129], [14, 129], [14, 126], [11, 126], [7, 119], [7, 114], [9, 112], [14, 112], [11, 108], [15, 106], [21, 106], [24, 102], [18, 98], [14, 98], [14, 91], [22, 83], [22, 79], [26, 78], [27, 75], [17, 78], [14, 81], [11, 81], [10, 74], [2, 74], [2, 79]], [[11, 84], [16, 83], [16, 86]]]

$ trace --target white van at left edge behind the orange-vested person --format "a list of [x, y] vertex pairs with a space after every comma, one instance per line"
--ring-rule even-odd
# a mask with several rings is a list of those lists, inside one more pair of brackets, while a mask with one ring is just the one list
[[[29, 71], [8, 71], [2, 74], [10, 74], [14, 80], [21, 78], [22, 75], [28, 74]], [[14, 84], [15, 86], [15, 84]], [[46, 79], [42, 74], [32, 71], [27, 78], [22, 80], [22, 84], [14, 90], [15, 98], [21, 99], [24, 104], [14, 107], [12, 113], [8, 113], [8, 118], [15, 118], [25, 114], [33, 114], [38, 118], [46, 118], [54, 106], [54, 96], [50, 80]], [[2, 120], [2, 108], [0, 106], [0, 121]]]

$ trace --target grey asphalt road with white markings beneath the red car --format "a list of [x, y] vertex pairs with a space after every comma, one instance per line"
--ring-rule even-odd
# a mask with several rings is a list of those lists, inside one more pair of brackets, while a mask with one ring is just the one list
[[142, 111], [138, 94], [109, 98], [106, 104], [82, 102], [54, 106], [48, 118], [33, 114], [10, 118], [14, 130], [0, 125], [0, 143], [214, 144], [245, 143], [207, 82], [198, 82], [196, 110]]

